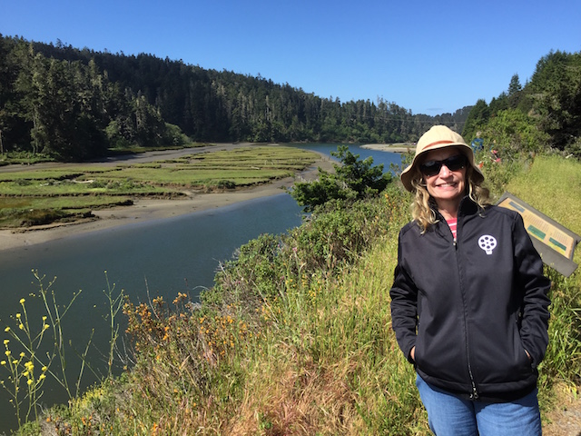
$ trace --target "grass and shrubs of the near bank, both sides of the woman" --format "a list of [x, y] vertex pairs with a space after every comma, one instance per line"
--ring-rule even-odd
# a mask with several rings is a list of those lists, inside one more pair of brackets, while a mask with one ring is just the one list
[[[554, 165], [550, 173], [545, 164]], [[559, 191], [553, 182], [536, 183], [533, 195], [522, 180], [535, 177], [537, 167], [546, 178], [569, 180], [578, 165], [537, 157], [530, 171], [512, 174], [507, 189], [548, 214], [558, 201], [577, 207], [575, 181]], [[126, 302], [136, 364], [68, 408], [47, 411], [36, 428], [45, 434], [429, 434], [415, 373], [390, 328], [397, 234], [409, 220], [409, 200], [391, 186], [379, 200], [335, 204], [288, 234], [262, 235], [223, 265], [201, 303], [184, 294], [173, 302]], [[581, 218], [569, 218], [566, 225], [579, 233]], [[554, 407], [556, 382], [578, 388], [581, 362], [579, 272], [565, 279], [547, 269], [547, 275], [553, 304], [539, 382], [543, 413]]]

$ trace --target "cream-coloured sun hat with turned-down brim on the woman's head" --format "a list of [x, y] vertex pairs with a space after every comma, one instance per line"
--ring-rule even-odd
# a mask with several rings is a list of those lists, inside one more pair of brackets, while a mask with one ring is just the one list
[[466, 154], [466, 157], [468, 157], [468, 162], [474, 169], [475, 181], [477, 183], [484, 181], [484, 175], [482, 175], [478, 169], [478, 166], [474, 164], [474, 153], [472, 152], [472, 148], [466, 144], [464, 138], [462, 138], [462, 136], [456, 132], [450, 130], [445, 125], [434, 125], [428, 130], [428, 132], [419, 138], [418, 145], [416, 146], [416, 155], [414, 156], [414, 160], [411, 161], [411, 164], [401, 173], [401, 182], [408, 191], [411, 192], [413, 190], [411, 179], [415, 173], [415, 169], [418, 166], [419, 161], [421, 161], [420, 156], [422, 154], [427, 154], [432, 150], [446, 147], [457, 147], [458, 150], [462, 152], [462, 154]]

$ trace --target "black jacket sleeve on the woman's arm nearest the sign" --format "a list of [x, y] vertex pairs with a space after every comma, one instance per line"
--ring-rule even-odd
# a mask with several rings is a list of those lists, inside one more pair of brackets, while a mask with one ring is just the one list
[[520, 214], [513, 223], [513, 243], [517, 284], [523, 290], [520, 337], [537, 366], [545, 357], [548, 344], [548, 292], [551, 282], [543, 275], [543, 262], [525, 230]]

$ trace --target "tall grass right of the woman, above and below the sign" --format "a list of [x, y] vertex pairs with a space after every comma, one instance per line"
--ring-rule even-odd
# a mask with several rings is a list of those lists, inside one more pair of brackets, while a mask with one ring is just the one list
[[[507, 183], [506, 190], [517, 195], [557, 223], [581, 234], [581, 171], [575, 160], [558, 155], [537, 157], [535, 163]], [[574, 261], [581, 263], [581, 247]], [[564, 277], [546, 267], [552, 281], [551, 320], [547, 356], [540, 367], [540, 397], [547, 410], [552, 392], [565, 385], [578, 392], [581, 386], [581, 272], [577, 268]]]

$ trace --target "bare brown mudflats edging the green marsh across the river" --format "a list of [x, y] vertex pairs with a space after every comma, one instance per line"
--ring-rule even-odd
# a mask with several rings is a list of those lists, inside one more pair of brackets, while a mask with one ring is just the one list
[[[193, 149], [193, 151], [195, 151], [195, 153], [202, 153], [208, 151], [232, 150], [248, 145], [249, 144], [216, 144]], [[147, 154], [138, 156], [126, 156], [124, 159], [115, 158], [114, 160], [103, 162], [102, 164], [119, 164], [126, 162], [127, 160], [130, 160], [131, 163], [153, 162], [160, 159], [175, 158], [177, 155], [188, 153], [192, 154], [192, 149], [168, 152], [148, 152]], [[50, 163], [48, 165], [54, 167], [58, 164]], [[66, 165], [66, 163], [63, 165]], [[281, 180], [252, 186], [250, 188], [225, 190], [221, 193], [188, 192], [187, 198], [185, 199], [162, 200], [135, 198], [133, 200], [133, 205], [95, 210], [93, 212], [94, 216], [75, 221], [74, 223], [54, 223], [29, 228], [0, 230], [0, 240], [2, 241], [0, 244], [0, 251], [25, 247], [37, 243], [46, 243], [77, 234], [97, 232], [130, 223], [162, 220], [173, 216], [201, 212], [233, 203], [240, 203], [254, 198], [276, 195], [278, 193], [283, 193], [285, 189], [290, 188], [296, 180], [313, 180], [318, 175], [319, 167], [325, 171], [332, 171], [333, 166], [330, 158], [320, 154], [320, 159], [313, 163], [309, 169], [294, 177], [286, 177]]]

